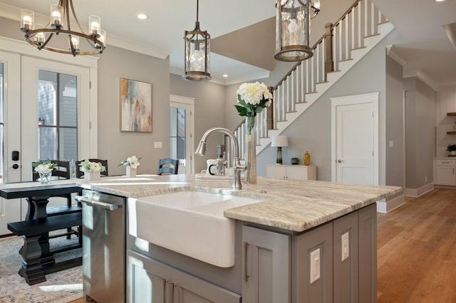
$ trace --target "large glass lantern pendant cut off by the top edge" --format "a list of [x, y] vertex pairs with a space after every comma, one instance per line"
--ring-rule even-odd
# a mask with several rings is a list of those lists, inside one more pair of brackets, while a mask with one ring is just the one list
[[281, 61], [312, 57], [310, 19], [320, 11], [320, 0], [276, 0], [276, 54]]

